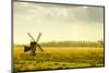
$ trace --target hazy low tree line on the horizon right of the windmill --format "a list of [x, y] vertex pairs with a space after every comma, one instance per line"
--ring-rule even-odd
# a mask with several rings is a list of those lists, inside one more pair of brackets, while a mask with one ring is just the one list
[[43, 47], [104, 47], [104, 41], [49, 41], [41, 42]]

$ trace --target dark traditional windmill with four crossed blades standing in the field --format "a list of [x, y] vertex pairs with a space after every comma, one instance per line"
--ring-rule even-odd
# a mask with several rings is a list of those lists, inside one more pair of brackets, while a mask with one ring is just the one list
[[39, 35], [37, 37], [37, 40], [35, 40], [29, 33], [27, 35], [32, 38], [33, 41], [31, 41], [31, 44], [29, 44], [31, 46], [24, 46], [24, 52], [31, 51], [32, 56], [36, 54], [36, 52], [35, 52], [36, 49], [38, 49], [39, 51], [44, 52], [44, 50], [41, 49], [39, 44], [37, 44], [39, 38], [40, 38], [40, 36], [41, 36], [41, 33], [39, 33]]

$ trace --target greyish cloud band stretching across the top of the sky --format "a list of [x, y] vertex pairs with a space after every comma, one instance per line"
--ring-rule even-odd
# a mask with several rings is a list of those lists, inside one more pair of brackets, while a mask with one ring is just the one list
[[99, 7], [63, 7], [63, 4], [39, 4], [26, 2], [15, 2], [14, 4], [14, 11], [16, 14], [28, 15], [29, 17], [36, 16], [45, 20], [50, 19], [53, 21], [68, 22], [104, 22], [104, 8]]

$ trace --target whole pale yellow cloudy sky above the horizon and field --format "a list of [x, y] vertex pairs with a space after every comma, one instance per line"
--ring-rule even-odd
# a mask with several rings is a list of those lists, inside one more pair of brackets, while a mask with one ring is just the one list
[[97, 41], [104, 38], [104, 8], [14, 2], [14, 44], [28, 44], [27, 35], [45, 41]]

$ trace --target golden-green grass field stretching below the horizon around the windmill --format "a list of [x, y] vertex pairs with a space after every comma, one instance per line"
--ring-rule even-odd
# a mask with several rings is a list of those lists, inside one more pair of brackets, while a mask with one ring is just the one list
[[22, 46], [14, 46], [13, 66], [17, 71], [57, 70], [88, 66], [104, 66], [104, 48], [100, 47], [43, 47], [36, 56], [23, 52]]

